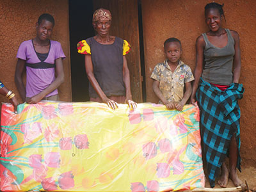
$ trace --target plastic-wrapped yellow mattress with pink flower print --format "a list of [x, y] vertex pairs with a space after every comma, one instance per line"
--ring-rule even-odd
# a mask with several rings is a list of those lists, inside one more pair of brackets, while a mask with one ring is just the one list
[[204, 187], [199, 109], [143, 103], [20, 104], [1, 110], [1, 191], [177, 191]]

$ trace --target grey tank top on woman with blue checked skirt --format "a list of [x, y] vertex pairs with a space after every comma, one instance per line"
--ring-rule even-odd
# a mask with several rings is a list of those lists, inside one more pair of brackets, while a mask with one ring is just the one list
[[202, 34], [205, 41], [205, 64], [202, 78], [209, 83], [228, 85], [233, 82], [232, 67], [235, 41], [230, 30], [225, 30], [227, 31], [228, 44], [223, 48], [215, 47], [209, 42], [206, 33]]

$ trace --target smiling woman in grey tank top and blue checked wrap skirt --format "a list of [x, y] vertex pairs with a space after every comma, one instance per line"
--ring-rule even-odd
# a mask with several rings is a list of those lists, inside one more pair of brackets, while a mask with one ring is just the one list
[[[241, 161], [237, 99], [241, 99], [244, 92], [243, 85], [238, 84], [241, 72], [239, 35], [221, 27], [225, 19], [222, 7], [218, 3], [205, 6], [205, 22], [210, 30], [196, 39], [195, 82], [191, 95], [191, 103], [197, 100], [201, 111], [202, 148], [212, 188], [220, 171], [218, 184], [221, 187], [227, 186], [228, 177], [235, 186], [242, 184], [236, 173]], [[234, 95], [239, 97], [234, 98]], [[236, 106], [227, 115], [221, 104], [230, 103]], [[230, 124], [230, 120], [235, 123]], [[224, 163], [227, 156], [229, 170]]]

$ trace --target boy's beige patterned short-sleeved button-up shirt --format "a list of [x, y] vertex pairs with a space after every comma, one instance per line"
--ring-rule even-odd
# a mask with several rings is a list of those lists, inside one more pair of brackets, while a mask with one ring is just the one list
[[[168, 102], [180, 102], [184, 97], [184, 85], [194, 80], [191, 68], [182, 61], [172, 72], [167, 60], [158, 63], [150, 78], [159, 81], [159, 90]], [[159, 100], [159, 103], [162, 103]]]

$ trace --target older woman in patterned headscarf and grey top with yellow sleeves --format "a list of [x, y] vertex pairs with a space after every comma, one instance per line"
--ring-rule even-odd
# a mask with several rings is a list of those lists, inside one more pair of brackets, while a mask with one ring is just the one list
[[111, 19], [109, 10], [96, 10], [93, 13], [93, 28], [97, 35], [77, 44], [78, 52], [85, 54], [90, 100], [104, 102], [112, 109], [118, 108], [118, 103], [127, 103], [135, 109], [137, 104], [132, 100], [125, 58], [130, 47], [127, 41], [109, 35]]

